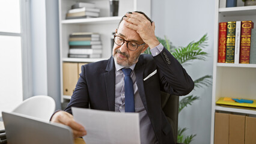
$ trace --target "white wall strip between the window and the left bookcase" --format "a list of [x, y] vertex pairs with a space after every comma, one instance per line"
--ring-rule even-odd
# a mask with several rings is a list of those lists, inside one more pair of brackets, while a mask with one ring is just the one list
[[49, 95], [61, 109], [58, 0], [31, 0], [32, 95]]

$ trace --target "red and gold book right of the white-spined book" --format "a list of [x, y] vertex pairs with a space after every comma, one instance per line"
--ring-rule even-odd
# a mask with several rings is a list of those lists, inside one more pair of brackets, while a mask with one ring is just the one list
[[249, 64], [251, 47], [251, 29], [254, 23], [251, 20], [241, 23], [241, 45], [240, 45], [240, 64]]

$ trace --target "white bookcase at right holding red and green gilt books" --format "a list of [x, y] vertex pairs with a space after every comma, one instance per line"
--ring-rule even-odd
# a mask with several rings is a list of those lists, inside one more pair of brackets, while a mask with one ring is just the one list
[[216, 0], [215, 6], [211, 144], [214, 143], [215, 112], [256, 116], [255, 109], [216, 105], [216, 101], [220, 97], [256, 99], [256, 64], [218, 63], [219, 22], [252, 20], [255, 24], [256, 6], [243, 7], [238, 5], [239, 7], [219, 8], [220, 1], [222, 0]]

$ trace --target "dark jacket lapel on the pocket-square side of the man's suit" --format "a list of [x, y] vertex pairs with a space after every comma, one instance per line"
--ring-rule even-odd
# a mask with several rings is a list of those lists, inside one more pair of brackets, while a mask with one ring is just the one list
[[142, 103], [144, 104], [145, 109], [147, 109], [147, 100], [145, 96], [145, 89], [143, 83], [143, 74], [144, 74], [144, 62], [143, 55], [139, 56], [139, 61], [135, 66], [135, 74], [136, 74], [136, 83], [138, 86], [139, 95], [141, 96]]

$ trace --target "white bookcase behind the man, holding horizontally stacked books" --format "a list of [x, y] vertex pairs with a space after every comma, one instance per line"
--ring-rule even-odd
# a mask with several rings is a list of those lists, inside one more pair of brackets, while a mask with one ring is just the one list
[[[151, 1], [147, 0], [120, 0], [118, 16], [110, 17], [109, 0], [81, 0], [79, 2], [94, 2], [100, 8], [100, 16], [87, 19], [66, 20], [66, 13], [77, 0], [59, 0], [59, 55], [60, 55], [60, 77], [61, 77], [61, 103], [70, 100], [70, 95], [63, 93], [63, 62], [96, 62], [108, 59], [112, 55], [111, 36], [115, 32], [121, 17], [127, 11], [144, 11], [151, 16]], [[102, 41], [102, 58], [68, 58], [69, 35], [72, 32], [98, 32]]]

